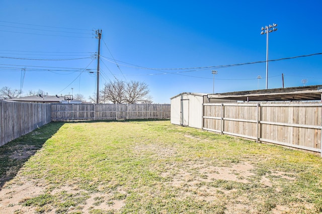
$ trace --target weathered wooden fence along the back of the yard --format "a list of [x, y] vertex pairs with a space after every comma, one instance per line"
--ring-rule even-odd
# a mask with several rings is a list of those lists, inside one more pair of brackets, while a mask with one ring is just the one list
[[51, 104], [53, 121], [170, 119], [170, 104]]

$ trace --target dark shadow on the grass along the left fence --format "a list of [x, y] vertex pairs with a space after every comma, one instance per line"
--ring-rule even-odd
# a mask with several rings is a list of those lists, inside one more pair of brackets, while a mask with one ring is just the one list
[[51, 122], [0, 147], [0, 190], [64, 122]]

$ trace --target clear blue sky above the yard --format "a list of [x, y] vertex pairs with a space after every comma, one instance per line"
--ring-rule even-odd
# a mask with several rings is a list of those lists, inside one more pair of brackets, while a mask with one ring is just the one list
[[[261, 27], [273, 23], [270, 60], [322, 53], [321, 8], [319, 0], [0, 0], [0, 88], [88, 98], [102, 29], [101, 88], [143, 81], [155, 103], [170, 103], [182, 92], [212, 93], [217, 70], [215, 93], [265, 89], [265, 62], [211, 66], [265, 61]], [[285, 87], [322, 84], [321, 70], [320, 54], [270, 62], [268, 88], [282, 87], [282, 73]]]

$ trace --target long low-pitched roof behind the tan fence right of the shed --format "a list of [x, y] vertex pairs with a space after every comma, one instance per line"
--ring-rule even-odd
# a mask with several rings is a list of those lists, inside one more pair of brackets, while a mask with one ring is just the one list
[[322, 85], [236, 91], [208, 94], [208, 98], [240, 101], [301, 101], [321, 100]]

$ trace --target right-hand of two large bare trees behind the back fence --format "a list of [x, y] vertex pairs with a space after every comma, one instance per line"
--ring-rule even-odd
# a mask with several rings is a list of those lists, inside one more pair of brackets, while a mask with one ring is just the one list
[[145, 82], [130, 81], [126, 83], [125, 100], [127, 103], [151, 103], [149, 92]]

